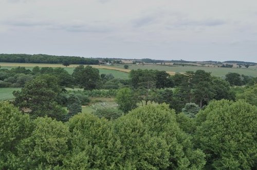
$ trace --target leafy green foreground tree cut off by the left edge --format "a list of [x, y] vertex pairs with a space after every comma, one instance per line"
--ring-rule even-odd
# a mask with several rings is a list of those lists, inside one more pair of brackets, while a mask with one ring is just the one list
[[0, 169], [15, 169], [16, 145], [31, 133], [31, 121], [8, 102], [0, 102]]

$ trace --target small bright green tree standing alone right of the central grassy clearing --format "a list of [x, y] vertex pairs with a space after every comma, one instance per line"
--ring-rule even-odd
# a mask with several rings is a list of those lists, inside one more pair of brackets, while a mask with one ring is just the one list
[[120, 89], [116, 95], [118, 108], [127, 113], [137, 107], [137, 100], [130, 88]]

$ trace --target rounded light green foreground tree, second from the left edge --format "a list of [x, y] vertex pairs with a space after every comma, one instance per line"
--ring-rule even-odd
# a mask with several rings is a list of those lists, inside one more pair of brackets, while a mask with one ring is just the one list
[[33, 121], [33, 132], [17, 145], [17, 169], [53, 169], [63, 164], [68, 153], [68, 126], [51, 118]]

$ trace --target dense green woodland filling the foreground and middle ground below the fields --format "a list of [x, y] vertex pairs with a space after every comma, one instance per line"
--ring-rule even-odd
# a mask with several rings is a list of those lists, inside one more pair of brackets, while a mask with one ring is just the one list
[[[0, 169], [256, 169], [256, 83], [204, 70], [123, 80], [91, 66], [0, 69], [0, 87], [22, 87], [0, 102]], [[91, 96], [117, 109], [81, 113]]]

